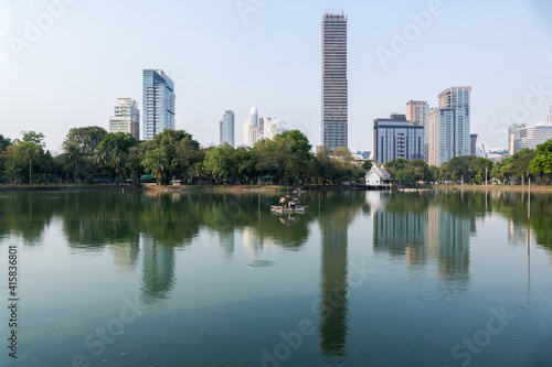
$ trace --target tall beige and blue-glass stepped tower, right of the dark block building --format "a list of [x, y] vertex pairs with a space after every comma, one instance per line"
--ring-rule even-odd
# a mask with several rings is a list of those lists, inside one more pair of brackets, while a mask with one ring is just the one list
[[427, 163], [440, 166], [455, 156], [469, 155], [471, 87], [453, 87], [439, 94], [439, 108], [427, 121]]

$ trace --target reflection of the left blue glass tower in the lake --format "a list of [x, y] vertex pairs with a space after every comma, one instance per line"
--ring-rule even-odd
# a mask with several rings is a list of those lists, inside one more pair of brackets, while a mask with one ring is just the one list
[[155, 303], [164, 299], [174, 284], [174, 249], [141, 236], [141, 250], [142, 298], [145, 302]]

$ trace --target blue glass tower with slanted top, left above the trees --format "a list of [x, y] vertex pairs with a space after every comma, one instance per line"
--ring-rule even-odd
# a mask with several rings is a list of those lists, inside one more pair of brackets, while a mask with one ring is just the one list
[[174, 83], [161, 69], [144, 71], [144, 140], [174, 129]]

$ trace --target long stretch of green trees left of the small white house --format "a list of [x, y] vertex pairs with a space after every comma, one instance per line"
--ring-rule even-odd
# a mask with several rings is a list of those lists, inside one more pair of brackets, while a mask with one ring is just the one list
[[176, 180], [193, 184], [326, 185], [358, 181], [364, 174], [347, 148], [331, 155], [325, 147], [311, 153], [312, 145], [299, 130], [261, 140], [252, 149], [234, 149], [227, 143], [201, 148], [182, 130], [164, 130], [152, 140], [137, 141], [129, 133], [108, 133], [100, 127], [73, 128], [56, 155], [44, 150], [42, 133], [21, 134], [13, 141], [0, 134], [0, 182], [138, 183], [146, 174], [160, 185]]

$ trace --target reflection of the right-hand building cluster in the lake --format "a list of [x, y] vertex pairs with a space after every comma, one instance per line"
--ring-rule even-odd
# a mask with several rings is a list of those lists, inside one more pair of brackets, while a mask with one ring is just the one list
[[464, 294], [469, 279], [469, 235], [476, 231], [475, 215], [458, 215], [426, 194], [392, 195], [369, 193], [367, 197], [374, 208], [374, 251], [404, 257], [411, 268], [436, 260], [445, 294]]

